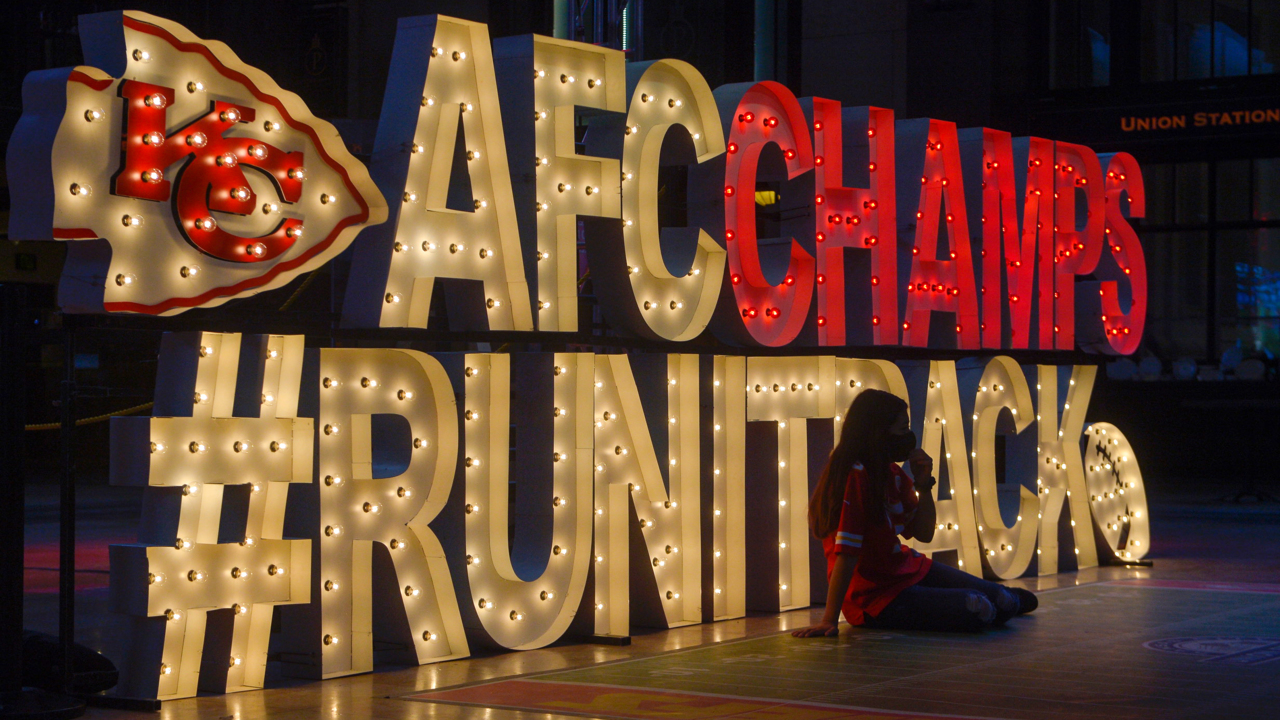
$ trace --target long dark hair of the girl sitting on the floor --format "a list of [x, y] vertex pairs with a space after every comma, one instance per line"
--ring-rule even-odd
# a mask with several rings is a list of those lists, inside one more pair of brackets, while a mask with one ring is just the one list
[[849, 405], [840, 442], [831, 451], [818, 487], [809, 498], [809, 529], [823, 538], [836, 532], [844, 509], [845, 484], [855, 462], [867, 469], [865, 507], [884, 505], [884, 493], [892, 482], [888, 429], [906, 410], [906, 402], [879, 389], [864, 389]]

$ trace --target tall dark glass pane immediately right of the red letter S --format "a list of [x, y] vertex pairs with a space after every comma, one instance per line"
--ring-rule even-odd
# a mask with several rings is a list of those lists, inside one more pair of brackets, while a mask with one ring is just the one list
[[1206, 356], [1208, 233], [1146, 233], [1142, 245], [1148, 274], [1143, 343], [1165, 359]]

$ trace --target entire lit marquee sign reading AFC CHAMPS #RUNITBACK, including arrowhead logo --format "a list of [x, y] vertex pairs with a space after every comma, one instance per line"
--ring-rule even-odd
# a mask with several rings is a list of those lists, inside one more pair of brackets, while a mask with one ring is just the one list
[[[155, 416], [111, 423], [111, 482], [145, 487], [163, 520], [111, 548], [134, 630], [125, 694], [260, 688], [269, 650], [333, 678], [372, 670], [375, 639], [428, 664], [472, 642], [741, 618], [749, 597], [806, 607], [814, 460], [867, 388], [914, 398], [950, 488], [919, 550], [1010, 579], [1056, 573], [1060, 552], [1097, 565], [1102, 542], [1114, 562], [1149, 548], [1133, 447], [1085, 424], [1097, 366], [997, 355], [1137, 351], [1132, 155], [777, 82], [713, 90], [678, 60], [492, 44], [484, 24], [425, 17], [399, 23], [370, 176], [225, 45], [133, 12], [79, 27], [87, 65], [27, 77], [8, 155], [12, 237], [69, 242], [64, 311], [209, 307], [351, 245], [347, 327], [430, 342], [443, 305], [451, 331], [564, 333], [517, 357], [476, 347], [485, 336], [453, 355], [165, 336]], [[664, 193], [682, 184], [672, 220], [681, 199]], [[590, 351], [632, 341], [581, 332], [588, 279], [611, 327], [655, 352]], [[703, 355], [680, 345], [694, 340]], [[744, 350], [801, 345], [832, 352]], [[852, 357], [870, 346], [890, 359]], [[529, 382], [541, 363], [550, 377]], [[997, 434], [1010, 457], [1036, 447], [1033, 474], [1006, 473], [1016, 514]], [[532, 512], [511, 503], [521, 482], [545, 491]], [[513, 516], [547, 543], [531, 571]]]

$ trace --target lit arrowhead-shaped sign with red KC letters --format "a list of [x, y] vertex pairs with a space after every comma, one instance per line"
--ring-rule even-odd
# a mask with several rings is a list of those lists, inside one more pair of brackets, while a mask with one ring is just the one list
[[82, 18], [86, 61], [23, 86], [15, 240], [72, 241], [73, 311], [172, 315], [280, 287], [387, 218], [338, 131], [221, 42]]

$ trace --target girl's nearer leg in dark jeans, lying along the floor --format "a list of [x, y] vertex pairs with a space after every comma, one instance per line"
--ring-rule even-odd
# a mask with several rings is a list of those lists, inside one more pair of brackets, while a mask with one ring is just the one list
[[996, 618], [995, 603], [979, 591], [915, 584], [899, 593], [879, 615], [868, 615], [864, 625], [878, 630], [974, 633]]

